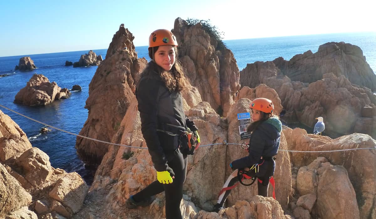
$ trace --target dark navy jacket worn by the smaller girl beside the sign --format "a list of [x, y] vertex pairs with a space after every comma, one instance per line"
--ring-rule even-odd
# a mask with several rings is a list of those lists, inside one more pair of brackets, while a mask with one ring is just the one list
[[[251, 167], [256, 163], [262, 163], [261, 156], [263, 158], [275, 156], [279, 148], [281, 131], [282, 124], [276, 117], [262, 122], [252, 132], [249, 139], [249, 156], [234, 160], [231, 163], [232, 168]], [[262, 166], [265, 167], [267, 165], [261, 165], [261, 167]]]

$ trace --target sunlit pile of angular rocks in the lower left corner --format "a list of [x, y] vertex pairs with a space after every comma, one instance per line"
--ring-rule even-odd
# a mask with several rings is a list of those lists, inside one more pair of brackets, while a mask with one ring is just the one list
[[87, 193], [76, 173], [53, 168], [49, 156], [0, 110], [0, 217], [71, 218]]

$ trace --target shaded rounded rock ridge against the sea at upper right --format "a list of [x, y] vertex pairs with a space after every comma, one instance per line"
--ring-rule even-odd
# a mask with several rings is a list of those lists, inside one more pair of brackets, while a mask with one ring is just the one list
[[332, 72], [337, 77], [345, 76], [352, 84], [376, 91], [376, 76], [365, 61], [363, 51], [349, 43], [327, 42], [320, 45], [316, 53], [308, 50], [289, 61], [279, 57], [273, 62], [293, 81], [312, 83]]

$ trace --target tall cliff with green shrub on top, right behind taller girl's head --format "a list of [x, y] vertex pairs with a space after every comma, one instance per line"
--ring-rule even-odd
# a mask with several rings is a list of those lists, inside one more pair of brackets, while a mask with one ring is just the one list
[[185, 20], [176, 18], [172, 32], [191, 85], [198, 89], [203, 101], [226, 116], [240, 89], [239, 69], [231, 50], [218, 47], [201, 23], [188, 26]]

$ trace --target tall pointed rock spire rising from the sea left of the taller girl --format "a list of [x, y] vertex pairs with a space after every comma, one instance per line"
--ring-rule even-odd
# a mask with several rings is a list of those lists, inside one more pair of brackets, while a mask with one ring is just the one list
[[[137, 59], [133, 38], [123, 25], [115, 33], [106, 59], [89, 84], [85, 105], [89, 110], [88, 119], [80, 135], [109, 142], [117, 132], [134, 97], [135, 83], [147, 62], [144, 58]], [[124, 43], [128, 42], [132, 45], [124, 48]], [[108, 144], [77, 137], [76, 148], [85, 163], [98, 165], [108, 151]]]

